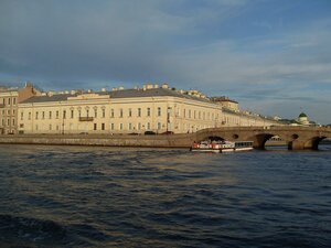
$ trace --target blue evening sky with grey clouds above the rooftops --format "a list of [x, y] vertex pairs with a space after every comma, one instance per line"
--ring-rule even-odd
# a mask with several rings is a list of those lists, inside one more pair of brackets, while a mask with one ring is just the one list
[[331, 123], [331, 0], [0, 0], [0, 85], [168, 83]]

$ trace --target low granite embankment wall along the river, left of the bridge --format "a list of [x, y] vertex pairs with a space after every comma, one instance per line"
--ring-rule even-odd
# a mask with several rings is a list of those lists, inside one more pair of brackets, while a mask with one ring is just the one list
[[153, 147], [189, 148], [192, 134], [12, 134], [0, 136], [0, 143], [15, 144], [61, 144], [61, 145], [103, 145], [103, 147]]

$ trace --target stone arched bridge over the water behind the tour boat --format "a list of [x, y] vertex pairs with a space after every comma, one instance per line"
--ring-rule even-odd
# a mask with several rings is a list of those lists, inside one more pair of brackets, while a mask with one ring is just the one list
[[209, 128], [191, 136], [195, 141], [212, 137], [229, 141], [253, 141], [254, 148], [257, 149], [264, 149], [268, 139], [278, 136], [290, 150], [317, 150], [321, 140], [331, 138], [331, 128], [292, 126]]

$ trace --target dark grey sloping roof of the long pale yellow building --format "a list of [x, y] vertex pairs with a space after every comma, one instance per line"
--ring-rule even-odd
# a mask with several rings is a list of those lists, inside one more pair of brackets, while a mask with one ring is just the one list
[[[181, 97], [191, 100], [199, 100], [203, 103], [212, 103], [207, 98], [199, 98], [185, 94], [180, 94], [177, 90], [169, 88], [151, 88], [151, 89], [121, 89], [114, 91], [99, 91], [96, 93], [99, 95], [109, 95], [110, 98], [134, 98], [134, 97], [158, 97], [158, 96], [172, 96], [172, 97]], [[31, 104], [31, 103], [49, 103], [49, 101], [65, 101], [68, 97], [77, 96], [71, 94], [60, 94], [53, 96], [34, 96], [31, 97], [21, 104]]]

